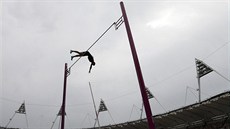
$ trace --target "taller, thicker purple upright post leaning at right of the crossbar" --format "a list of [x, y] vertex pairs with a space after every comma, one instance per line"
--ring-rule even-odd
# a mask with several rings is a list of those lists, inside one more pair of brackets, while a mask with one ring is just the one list
[[128, 35], [128, 39], [129, 39], [130, 48], [131, 48], [132, 55], [133, 55], [133, 61], [134, 61], [135, 68], [136, 68], [136, 73], [137, 73], [138, 82], [139, 82], [139, 86], [140, 86], [140, 90], [141, 90], [141, 95], [142, 95], [142, 99], [143, 99], [143, 103], [144, 103], [144, 107], [145, 107], [145, 111], [146, 111], [149, 129], [155, 129], [155, 124], [154, 124], [154, 121], [152, 119], [152, 112], [151, 112], [148, 96], [147, 96], [146, 89], [145, 89], [144, 79], [142, 76], [139, 60], [137, 57], [136, 48], [134, 45], [132, 33], [131, 33], [131, 30], [129, 27], [129, 22], [128, 22], [128, 18], [126, 15], [126, 11], [125, 11], [125, 7], [124, 7], [123, 2], [120, 2], [120, 6], [121, 6], [121, 11], [123, 14], [124, 22], [125, 22], [125, 27], [126, 27], [126, 31], [127, 31], [127, 35]]

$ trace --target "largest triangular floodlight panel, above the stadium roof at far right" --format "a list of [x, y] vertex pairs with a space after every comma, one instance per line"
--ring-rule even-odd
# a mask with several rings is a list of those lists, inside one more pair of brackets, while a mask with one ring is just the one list
[[196, 61], [196, 70], [197, 70], [197, 78], [201, 78], [204, 75], [213, 71], [211, 67], [206, 65], [203, 61], [195, 59]]

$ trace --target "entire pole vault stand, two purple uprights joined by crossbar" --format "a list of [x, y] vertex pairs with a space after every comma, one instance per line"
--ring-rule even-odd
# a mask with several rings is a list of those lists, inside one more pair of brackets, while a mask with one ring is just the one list
[[[140, 91], [141, 91], [141, 95], [142, 95], [142, 99], [143, 99], [143, 103], [144, 103], [144, 107], [145, 107], [145, 111], [146, 111], [146, 116], [147, 116], [147, 120], [148, 120], [148, 126], [149, 126], [149, 129], [155, 129], [155, 124], [154, 124], [154, 121], [152, 119], [152, 112], [151, 112], [150, 104], [149, 104], [147, 93], [146, 93], [146, 90], [145, 90], [144, 79], [143, 79], [143, 76], [142, 76], [139, 60], [138, 60], [138, 57], [137, 57], [136, 48], [135, 48], [135, 45], [134, 45], [132, 33], [131, 33], [131, 30], [130, 30], [130, 26], [129, 26], [129, 22], [128, 22], [128, 18], [127, 18], [127, 15], [126, 15], [126, 11], [125, 11], [125, 7], [124, 7], [123, 2], [120, 2], [120, 6], [121, 6], [121, 11], [122, 11], [122, 17], [120, 17], [117, 22], [114, 22], [112, 25], [110, 25], [109, 28], [87, 49], [87, 51], [91, 47], [93, 47], [99, 41], [99, 39], [101, 39], [101, 37], [103, 37], [104, 34], [107, 33], [108, 30], [110, 30], [110, 28], [112, 26], [115, 26], [115, 30], [117, 30], [121, 26], [121, 24], [123, 22], [125, 23], [125, 27], [126, 27], [126, 31], [127, 31], [127, 35], [128, 35], [128, 39], [129, 39], [129, 43], [130, 43], [130, 48], [131, 48], [131, 52], [132, 52], [132, 56], [133, 56], [133, 61], [134, 61], [134, 65], [135, 65], [135, 69], [136, 69], [136, 73], [137, 73], [137, 78], [138, 78], [138, 82], [139, 82], [139, 86], [140, 86]], [[71, 68], [75, 65], [76, 62], [78, 62], [80, 60], [80, 58], [81, 57], [79, 57], [69, 68], [67, 67], [67, 63], [65, 63], [64, 86], [63, 86], [63, 101], [62, 101], [62, 115], [61, 115], [62, 116], [61, 129], [64, 129], [64, 127], [65, 127], [65, 103], [66, 103], [67, 77], [70, 75]]]

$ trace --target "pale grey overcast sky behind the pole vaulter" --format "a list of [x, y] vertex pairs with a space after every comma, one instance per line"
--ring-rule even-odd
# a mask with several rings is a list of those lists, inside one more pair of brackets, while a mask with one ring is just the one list
[[[25, 101], [29, 127], [51, 127], [62, 103], [64, 64], [76, 60], [70, 60], [69, 51], [87, 50], [117, 21], [119, 2], [1, 1], [0, 126]], [[163, 106], [151, 99], [153, 115], [198, 101], [195, 58], [229, 78], [228, 0], [124, 4], [146, 87]], [[93, 127], [89, 82], [97, 108], [102, 98], [115, 123], [139, 119], [142, 101], [124, 24], [111, 28], [90, 53], [96, 62], [91, 73], [85, 57], [67, 79], [66, 127]], [[230, 83], [212, 72], [201, 78], [201, 87], [205, 100], [229, 90]], [[101, 125], [114, 124], [108, 112], [99, 119]], [[25, 116], [16, 114], [9, 127], [26, 128]]]

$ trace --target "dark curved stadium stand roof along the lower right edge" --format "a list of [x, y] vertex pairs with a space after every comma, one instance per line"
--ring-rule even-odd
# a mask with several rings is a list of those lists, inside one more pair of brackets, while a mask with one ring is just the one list
[[[218, 121], [229, 121], [230, 91], [218, 94], [200, 103], [195, 103], [164, 114], [153, 116], [157, 129], [196, 127]], [[101, 129], [148, 129], [146, 119], [103, 126]]]

